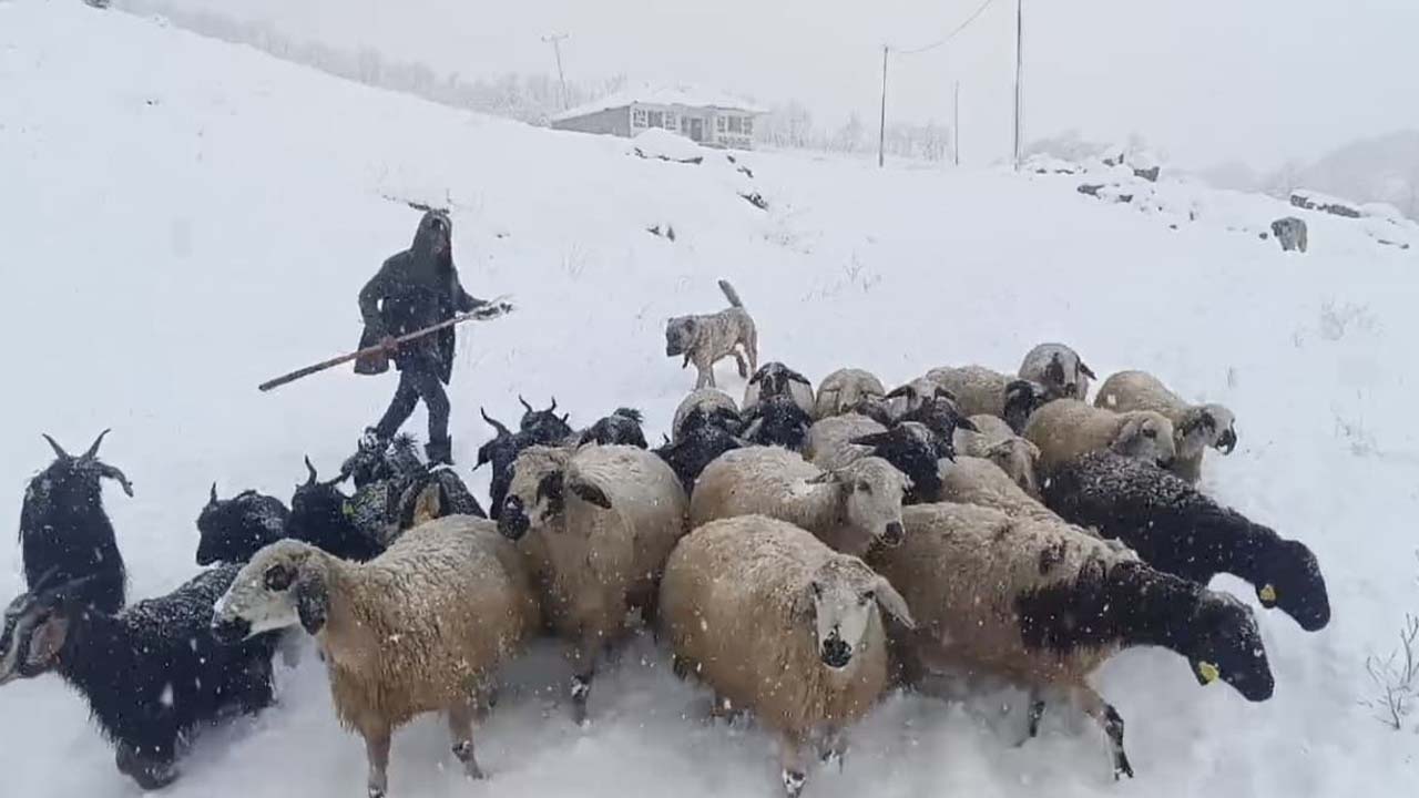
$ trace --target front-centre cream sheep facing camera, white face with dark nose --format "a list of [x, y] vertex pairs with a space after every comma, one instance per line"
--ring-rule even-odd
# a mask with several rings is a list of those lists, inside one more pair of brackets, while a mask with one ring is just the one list
[[807, 778], [805, 745], [841, 761], [847, 727], [887, 687], [881, 613], [912, 626], [901, 595], [861, 559], [763, 515], [687, 535], [660, 595], [675, 673], [714, 689], [717, 711], [751, 710], [778, 734], [790, 798]]

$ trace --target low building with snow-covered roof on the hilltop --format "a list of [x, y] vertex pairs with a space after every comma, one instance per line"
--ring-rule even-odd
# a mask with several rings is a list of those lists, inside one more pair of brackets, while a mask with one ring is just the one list
[[552, 128], [633, 138], [650, 128], [680, 133], [704, 146], [753, 149], [753, 121], [765, 111], [742, 99], [704, 92], [640, 88], [552, 116]]

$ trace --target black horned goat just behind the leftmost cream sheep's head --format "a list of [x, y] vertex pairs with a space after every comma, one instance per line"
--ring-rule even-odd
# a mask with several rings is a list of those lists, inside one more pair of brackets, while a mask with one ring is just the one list
[[[363, 518], [352, 498], [336, 487], [346, 476], [339, 474], [322, 483], [309, 457], [305, 459], [305, 469], [308, 471], [305, 484], [297, 486], [291, 496], [291, 523], [285, 537], [305, 541], [345, 559], [373, 559], [383, 552], [380, 528], [373, 525], [373, 520]], [[386, 480], [366, 486], [365, 491], [387, 496], [387, 486], [390, 483]], [[386, 498], [382, 507], [387, 508], [392, 504]]]

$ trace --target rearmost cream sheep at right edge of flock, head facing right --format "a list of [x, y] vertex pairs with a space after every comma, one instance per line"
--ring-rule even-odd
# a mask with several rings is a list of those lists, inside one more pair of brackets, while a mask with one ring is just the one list
[[1202, 453], [1209, 446], [1232, 454], [1237, 446], [1236, 416], [1222, 405], [1189, 405], [1156, 376], [1144, 371], [1121, 371], [1098, 388], [1098, 408], [1125, 413], [1155, 410], [1168, 416], [1174, 427], [1178, 457], [1172, 473], [1196, 483], [1202, 477]]

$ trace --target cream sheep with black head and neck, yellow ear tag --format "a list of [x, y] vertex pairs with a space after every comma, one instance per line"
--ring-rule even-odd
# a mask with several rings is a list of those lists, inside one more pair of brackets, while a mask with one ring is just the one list
[[907, 599], [918, 632], [901, 652], [921, 670], [1002, 676], [1030, 690], [1029, 734], [1044, 700], [1063, 700], [1105, 731], [1114, 775], [1132, 775], [1124, 721], [1088, 676], [1121, 649], [1164, 646], [1208, 684], [1252, 701], [1274, 682], [1249, 608], [1063, 523], [1027, 521], [965, 504], [904, 511], [907, 540], [868, 562]]

